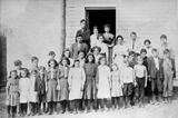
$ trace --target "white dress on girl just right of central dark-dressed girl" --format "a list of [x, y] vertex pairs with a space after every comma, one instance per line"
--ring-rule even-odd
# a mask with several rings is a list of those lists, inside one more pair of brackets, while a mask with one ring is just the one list
[[108, 66], [99, 66], [98, 67], [98, 95], [97, 97], [100, 99], [110, 98], [110, 68]]

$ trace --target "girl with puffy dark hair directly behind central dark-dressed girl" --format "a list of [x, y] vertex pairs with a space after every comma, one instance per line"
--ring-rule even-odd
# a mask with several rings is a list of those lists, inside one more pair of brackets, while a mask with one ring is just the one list
[[101, 57], [100, 51], [101, 51], [100, 47], [95, 46], [91, 48], [91, 52], [93, 53], [95, 62], [97, 65], [99, 63], [99, 58]]

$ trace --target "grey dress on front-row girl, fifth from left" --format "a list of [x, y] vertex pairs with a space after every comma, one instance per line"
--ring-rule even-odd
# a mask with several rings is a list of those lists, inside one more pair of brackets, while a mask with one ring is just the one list
[[[53, 72], [53, 78], [51, 78], [51, 73]], [[51, 71], [50, 69], [47, 71], [47, 101], [57, 101], [57, 79], [58, 79], [58, 69]]]

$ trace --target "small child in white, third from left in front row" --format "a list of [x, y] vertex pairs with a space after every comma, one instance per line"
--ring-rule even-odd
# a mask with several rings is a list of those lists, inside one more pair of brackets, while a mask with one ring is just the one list
[[30, 105], [31, 105], [32, 116], [38, 114], [37, 91], [34, 90], [37, 73], [38, 73], [37, 70], [32, 70], [30, 76]]

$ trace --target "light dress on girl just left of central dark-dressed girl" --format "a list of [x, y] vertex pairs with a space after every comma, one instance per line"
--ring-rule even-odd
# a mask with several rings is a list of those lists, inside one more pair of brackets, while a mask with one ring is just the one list
[[83, 86], [86, 73], [83, 68], [71, 68], [69, 71], [69, 100], [81, 99], [83, 95]]

